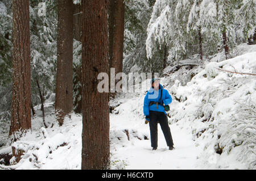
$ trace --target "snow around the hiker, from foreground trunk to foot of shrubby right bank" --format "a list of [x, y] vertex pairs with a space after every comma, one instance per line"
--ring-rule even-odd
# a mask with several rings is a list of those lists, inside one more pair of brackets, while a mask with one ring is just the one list
[[143, 118], [145, 94], [122, 93], [110, 101], [110, 106], [117, 105], [110, 114], [112, 169], [196, 169], [200, 149], [192, 134], [177, 124], [170, 125], [175, 150], [168, 150], [159, 124], [158, 149], [152, 150], [149, 124]]

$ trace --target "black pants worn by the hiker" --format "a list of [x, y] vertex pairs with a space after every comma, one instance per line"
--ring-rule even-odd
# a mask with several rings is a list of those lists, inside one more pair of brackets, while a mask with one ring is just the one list
[[167, 146], [173, 146], [172, 134], [168, 125], [168, 118], [164, 112], [150, 111], [150, 140], [152, 148], [158, 147], [158, 121], [162, 128]]

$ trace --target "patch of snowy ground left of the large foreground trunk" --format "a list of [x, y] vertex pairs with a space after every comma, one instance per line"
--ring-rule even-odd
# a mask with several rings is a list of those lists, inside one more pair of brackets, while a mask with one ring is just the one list
[[[66, 117], [63, 126], [59, 127], [54, 116], [54, 107], [52, 103], [47, 103], [46, 122], [49, 127], [44, 128], [40, 106], [34, 108], [38, 110], [36, 110], [37, 116], [32, 119], [32, 132], [13, 144], [15, 148], [25, 150], [25, 153], [18, 164], [11, 159], [13, 165], [9, 167], [11, 169], [80, 169], [81, 115], [72, 113], [71, 119]], [[1, 152], [0, 150], [0, 154]]]

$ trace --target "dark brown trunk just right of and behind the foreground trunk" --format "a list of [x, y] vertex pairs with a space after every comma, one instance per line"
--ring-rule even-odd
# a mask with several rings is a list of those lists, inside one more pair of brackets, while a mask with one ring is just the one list
[[[125, 30], [125, 3], [123, 0], [109, 0], [109, 66], [115, 74], [123, 69], [123, 32]], [[110, 74], [109, 74], [110, 75]], [[115, 83], [119, 80], [115, 80]], [[109, 86], [110, 82], [109, 82]]]

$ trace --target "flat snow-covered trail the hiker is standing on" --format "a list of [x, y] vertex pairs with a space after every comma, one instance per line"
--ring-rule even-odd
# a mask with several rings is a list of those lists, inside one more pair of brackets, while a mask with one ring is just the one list
[[[196, 159], [200, 150], [195, 146], [191, 132], [181, 129], [179, 125], [170, 125], [175, 149], [168, 150], [162, 129], [158, 124], [158, 149], [153, 151], [149, 125], [144, 124], [144, 120], [136, 120], [134, 117], [137, 121], [135, 123], [129, 118], [133, 119], [122, 115], [110, 115], [110, 135], [118, 128], [120, 131], [129, 130], [130, 140], [124, 133], [123, 136], [120, 136], [120, 140], [117, 139], [115, 144], [112, 144], [112, 146], [115, 145], [112, 148], [112, 154], [114, 154], [112, 158], [118, 158], [125, 162], [125, 169], [198, 169], [196, 168]], [[137, 136], [142, 139], [139, 140]], [[144, 136], [147, 136], [148, 139], [144, 140]]]

